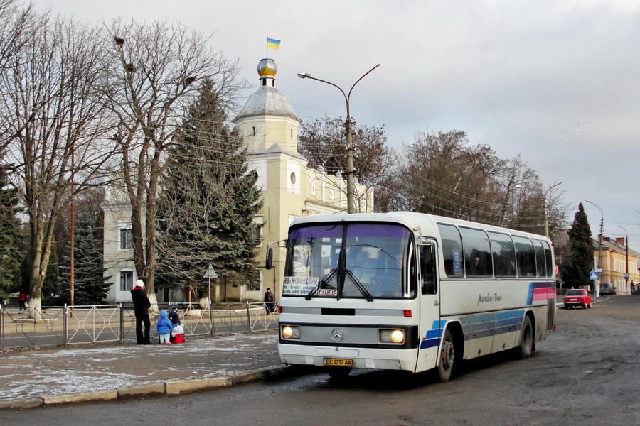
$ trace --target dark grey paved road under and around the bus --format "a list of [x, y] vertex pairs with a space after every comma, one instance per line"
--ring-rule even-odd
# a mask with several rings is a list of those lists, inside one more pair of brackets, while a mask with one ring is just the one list
[[158, 425], [638, 425], [640, 296], [558, 310], [558, 329], [528, 360], [489, 356], [449, 383], [427, 374], [324, 373], [215, 391], [2, 413], [6, 426]]

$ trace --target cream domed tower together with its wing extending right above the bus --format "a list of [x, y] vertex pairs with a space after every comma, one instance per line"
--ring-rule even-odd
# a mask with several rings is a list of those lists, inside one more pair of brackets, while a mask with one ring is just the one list
[[[300, 120], [287, 98], [275, 88], [277, 66], [263, 59], [257, 66], [260, 87], [253, 93], [233, 122], [245, 141], [250, 167], [258, 174], [257, 187], [262, 190], [264, 205], [254, 222], [260, 225], [262, 244], [256, 261], [265, 265], [267, 244], [287, 239], [289, 224], [308, 214], [346, 211], [346, 181], [327, 175], [323, 168], [309, 169], [298, 152]], [[373, 190], [356, 185], [361, 212], [373, 210]], [[274, 249], [274, 268], [258, 268], [260, 285], [240, 290], [242, 300], [262, 300], [268, 288], [276, 300], [282, 293], [284, 250]]]

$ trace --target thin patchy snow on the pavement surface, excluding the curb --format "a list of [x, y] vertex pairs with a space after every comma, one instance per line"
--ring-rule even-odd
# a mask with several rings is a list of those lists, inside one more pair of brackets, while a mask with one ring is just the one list
[[277, 335], [191, 337], [185, 344], [130, 342], [0, 353], [0, 400], [228, 376], [279, 365]]

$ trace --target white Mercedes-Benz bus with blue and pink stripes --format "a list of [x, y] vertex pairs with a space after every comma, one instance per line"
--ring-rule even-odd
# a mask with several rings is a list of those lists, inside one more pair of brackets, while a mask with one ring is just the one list
[[528, 358], [554, 327], [544, 236], [410, 212], [318, 214], [292, 222], [286, 249], [284, 364], [437, 368], [447, 381], [463, 359]]

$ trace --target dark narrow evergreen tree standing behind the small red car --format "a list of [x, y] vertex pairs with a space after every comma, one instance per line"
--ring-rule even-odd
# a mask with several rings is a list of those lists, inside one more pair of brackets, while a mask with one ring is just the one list
[[578, 205], [568, 235], [567, 256], [561, 265], [562, 280], [567, 288], [582, 288], [590, 284], [589, 271], [593, 266], [591, 227], [582, 203]]

